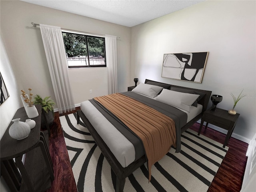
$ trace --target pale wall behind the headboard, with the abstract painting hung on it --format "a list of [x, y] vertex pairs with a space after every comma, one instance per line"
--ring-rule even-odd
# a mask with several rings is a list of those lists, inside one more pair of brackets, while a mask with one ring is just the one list
[[[248, 142], [256, 128], [256, 2], [205, 1], [132, 27], [131, 78], [212, 90], [219, 108], [244, 89], [233, 135]], [[161, 78], [163, 55], [209, 52], [201, 84]], [[133, 83], [134, 84], [134, 83]], [[211, 102], [209, 102], [209, 106]]]

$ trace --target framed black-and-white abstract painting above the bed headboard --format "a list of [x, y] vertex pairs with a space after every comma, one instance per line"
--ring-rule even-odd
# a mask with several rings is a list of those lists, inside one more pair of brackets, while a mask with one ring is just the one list
[[164, 54], [162, 77], [201, 83], [208, 52]]

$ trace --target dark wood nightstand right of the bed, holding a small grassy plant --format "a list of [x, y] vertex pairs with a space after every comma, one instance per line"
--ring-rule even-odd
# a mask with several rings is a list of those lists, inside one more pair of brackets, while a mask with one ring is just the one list
[[223, 129], [228, 130], [225, 142], [223, 147], [226, 146], [228, 139], [231, 137], [234, 127], [236, 126], [236, 121], [238, 120], [239, 113], [235, 115], [228, 114], [227, 110], [216, 108], [216, 111], [211, 111], [210, 109], [204, 112], [204, 115], [201, 120], [201, 125], [198, 131], [198, 135], [202, 130], [202, 126], [204, 122], [206, 122], [205, 128], [207, 128], [208, 123], [221, 127]]

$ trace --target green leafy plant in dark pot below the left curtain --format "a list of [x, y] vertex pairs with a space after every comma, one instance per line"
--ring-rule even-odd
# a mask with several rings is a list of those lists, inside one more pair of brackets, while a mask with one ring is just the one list
[[[50, 99], [50, 96], [47, 96], [43, 99], [40, 95], [36, 94], [36, 96], [34, 97], [34, 104], [42, 105], [42, 109], [45, 112], [48, 125], [49, 126], [52, 125], [52, 123], [54, 121], [53, 106], [55, 105], [55, 102]], [[41, 116], [41, 127], [46, 128], [46, 124], [45, 124], [43, 115]]]

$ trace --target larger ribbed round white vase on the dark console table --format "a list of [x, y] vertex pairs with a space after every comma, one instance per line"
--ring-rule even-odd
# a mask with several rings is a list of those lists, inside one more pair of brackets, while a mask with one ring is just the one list
[[20, 118], [13, 119], [9, 128], [9, 135], [17, 140], [26, 138], [30, 134], [30, 126], [25, 122], [20, 121]]

